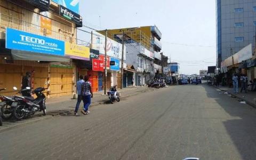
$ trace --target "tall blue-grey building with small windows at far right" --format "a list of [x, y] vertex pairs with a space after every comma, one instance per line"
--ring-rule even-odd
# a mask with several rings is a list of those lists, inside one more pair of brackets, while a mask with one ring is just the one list
[[255, 48], [256, 1], [217, 0], [217, 67], [221, 61], [252, 44]]

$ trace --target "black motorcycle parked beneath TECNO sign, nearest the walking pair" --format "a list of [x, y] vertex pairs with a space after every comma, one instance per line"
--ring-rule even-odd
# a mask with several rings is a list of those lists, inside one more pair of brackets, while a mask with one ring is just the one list
[[[47, 88], [46, 88], [47, 89]], [[14, 96], [15, 102], [12, 103], [13, 116], [17, 120], [21, 120], [25, 116], [32, 116], [37, 111], [43, 111], [43, 115], [46, 115], [46, 106], [45, 100], [46, 97], [43, 91], [46, 90], [45, 88], [38, 87], [32, 93], [35, 93], [37, 98], [34, 99], [33, 97], [28, 96]]]

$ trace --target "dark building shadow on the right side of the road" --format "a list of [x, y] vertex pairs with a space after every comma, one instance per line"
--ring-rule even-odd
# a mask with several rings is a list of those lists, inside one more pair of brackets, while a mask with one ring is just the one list
[[243, 159], [255, 159], [256, 157], [256, 110], [248, 105], [243, 105], [237, 99], [227, 94], [222, 94], [212, 86], [202, 85], [207, 92], [207, 97], [215, 101], [231, 117], [223, 121], [230, 139], [236, 146]]

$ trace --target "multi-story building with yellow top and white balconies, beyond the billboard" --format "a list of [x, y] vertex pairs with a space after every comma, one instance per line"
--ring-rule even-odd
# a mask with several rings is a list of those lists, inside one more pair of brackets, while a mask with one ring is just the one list
[[[98, 32], [105, 35], [105, 30]], [[145, 26], [110, 29], [108, 30], [108, 37], [121, 43], [123, 33], [126, 46], [126, 63], [132, 65], [138, 72], [135, 74], [135, 85], [145, 85], [148, 80], [155, 76], [157, 70], [162, 73], [162, 66], [154, 63], [154, 55], [159, 54], [162, 50], [160, 42], [162, 34], [156, 26]]]

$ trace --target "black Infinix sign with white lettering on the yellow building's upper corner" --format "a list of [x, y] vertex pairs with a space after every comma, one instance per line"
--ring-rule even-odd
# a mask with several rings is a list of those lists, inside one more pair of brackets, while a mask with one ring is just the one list
[[66, 19], [75, 22], [77, 25], [82, 26], [82, 18], [79, 14], [67, 9], [65, 6], [60, 5], [60, 15]]

